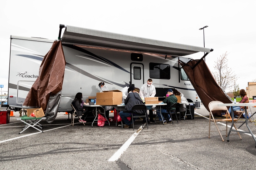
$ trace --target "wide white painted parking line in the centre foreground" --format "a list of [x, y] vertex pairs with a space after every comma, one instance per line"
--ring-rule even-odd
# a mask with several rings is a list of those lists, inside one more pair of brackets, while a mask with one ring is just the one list
[[133, 142], [133, 140], [137, 137], [137, 135], [139, 134], [139, 132], [142, 130], [142, 126], [140, 126], [138, 128], [138, 130], [133, 133], [133, 135], [123, 144], [123, 146], [121, 146], [118, 151], [116, 151], [116, 153], [114, 153], [113, 156], [111, 156], [111, 158], [109, 158], [109, 162], [113, 162], [116, 161], [121, 155], [122, 153], [130, 146], [130, 144]]

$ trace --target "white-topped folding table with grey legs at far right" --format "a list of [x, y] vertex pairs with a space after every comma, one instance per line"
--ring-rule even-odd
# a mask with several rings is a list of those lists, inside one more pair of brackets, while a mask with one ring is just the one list
[[[230, 132], [231, 131], [236, 131], [236, 132], [239, 132], [239, 133], [250, 133], [251, 135], [252, 135], [252, 138], [254, 139], [254, 141], [255, 141], [255, 147], [256, 147], [256, 139], [255, 139], [255, 136], [254, 136], [254, 134], [252, 133], [252, 131], [251, 131], [251, 129], [249, 128], [249, 126], [248, 126], [248, 119], [249, 118], [247, 118], [247, 109], [246, 109], [246, 107], [247, 106], [255, 106], [255, 103], [229, 103], [229, 104], [218, 104], [218, 106], [230, 106], [231, 107], [231, 118], [232, 118], [232, 125], [231, 125], [231, 127], [230, 127], [230, 129], [229, 129], [229, 132], [228, 132], [228, 138], [227, 138], [227, 141], [229, 142], [229, 134], [230, 134]], [[233, 107], [232, 106], [244, 106], [244, 109], [245, 109], [245, 124], [246, 124], [246, 127], [248, 128], [248, 130], [249, 131], [238, 131], [238, 130], [233, 130], [232, 128], [233, 128], [233, 126], [234, 126], [234, 111], [233, 111]], [[254, 113], [255, 114], [255, 113]], [[253, 114], [253, 115], [254, 115]], [[252, 115], [252, 116], [253, 116]], [[252, 117], [251, 116], [251, 117]], [[251, 118], [250, 117], [250, 118]], [[242, 124], [243, 125], [243, 124]], [[242, 126], [241, 125], [241, 126]], [[240, 126], [240, 127], [241, 127]], [[240, 128], [239, 127], [239, 128]]]

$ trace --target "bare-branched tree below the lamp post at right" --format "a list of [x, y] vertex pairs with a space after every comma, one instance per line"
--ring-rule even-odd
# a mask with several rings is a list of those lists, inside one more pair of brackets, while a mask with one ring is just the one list
[[226, 51], [224, 54], [220, 55], [216, 61], [214, 61], [214, 69], [216, 71], [212, 72], [216, 82], [224, 90], [232, 87], [234, 82], [237, 80], [236, 74], [228, 67], [228, 54], [229, 53]]

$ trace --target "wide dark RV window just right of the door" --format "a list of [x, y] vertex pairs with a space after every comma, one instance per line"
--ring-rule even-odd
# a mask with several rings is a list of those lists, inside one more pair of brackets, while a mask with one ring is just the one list
[[157, 79], [170, 79], [170, 65], [149, 63], [149, 77]]

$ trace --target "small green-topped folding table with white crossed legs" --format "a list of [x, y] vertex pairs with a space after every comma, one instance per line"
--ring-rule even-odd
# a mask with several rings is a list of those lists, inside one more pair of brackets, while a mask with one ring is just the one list
[[[38, 129], [38, 128], [42, 129], [42, 127], [40, 127], [42, 125], [39, 124], [39, 122], [43, 119], [46, 119], [46, 118], [33, 118], [33, 117], [27, 117], [27, 115], [23, 115], [22, 117], [18, 118], [17, 120], [24, 122], [26, 124], [26, 126], [22, 129], [21, 132], [19, 132], [19, 134], [21, 134], [23, 131], [25, 131], [29, 127], [35, 128], [40, 132], [44, 132], [44, 131]], [[27, 123], [26, 121], [28, 121], [29, 123]], [[35, 126], [37, 126], [38, 128], [36, 128]]]

